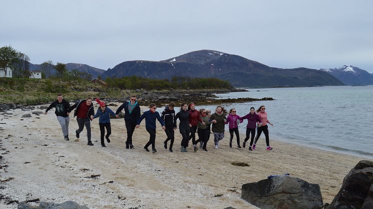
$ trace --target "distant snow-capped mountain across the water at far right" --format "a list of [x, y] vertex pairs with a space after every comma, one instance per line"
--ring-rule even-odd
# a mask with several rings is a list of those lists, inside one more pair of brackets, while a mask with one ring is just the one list
[[339, 68], [320, 69], [338, 78], [345, 85], [373, 85], [373, 73], [352, 65], [343, 65]]

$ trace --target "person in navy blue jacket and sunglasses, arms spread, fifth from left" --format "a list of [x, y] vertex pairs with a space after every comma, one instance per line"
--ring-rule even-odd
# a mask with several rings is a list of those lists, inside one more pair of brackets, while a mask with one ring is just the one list
[[160, 117], [159, 113], [156, 110], [155, 104], [150, 104], [150, 109], [148, 111], [145, 111], [140, 119], [137, 121], [136, 128], [140, 127], [140, 123], [142, 119], [145, 118], [145, 128], [146, 131], [150, 134], [149, 141], [144, 146], [144, 149], [146, 152], [149, 152], [147, 147], [151, 144], [151, 152], [156, 153], [155, 150], [155, 119], [159, 121], [160, 125], [162, 126], [162, 129], [165, 130], [166, 127], [164, 126], [164, 122], [162, 118]]

